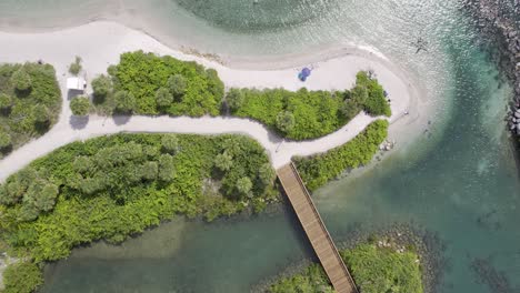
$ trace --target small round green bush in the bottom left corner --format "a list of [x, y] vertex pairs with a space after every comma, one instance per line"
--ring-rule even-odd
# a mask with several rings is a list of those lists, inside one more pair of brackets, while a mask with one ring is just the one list
[[43, 274], [34, 263], [20, 261], [6, 267], [3, 284], [6, 293], [31, 293], [43, 284]]

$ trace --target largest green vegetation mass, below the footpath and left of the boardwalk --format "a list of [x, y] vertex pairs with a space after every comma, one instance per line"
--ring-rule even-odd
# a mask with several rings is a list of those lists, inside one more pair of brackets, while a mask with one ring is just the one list
[[262, 146], [240, 135], [74, 142], [0, 185], [2, 239], [34, 263], [59, 260], [78, 244], [121, 242], [176, 214], [212, 220], [258, 212], [277, 199], [273, 181]]

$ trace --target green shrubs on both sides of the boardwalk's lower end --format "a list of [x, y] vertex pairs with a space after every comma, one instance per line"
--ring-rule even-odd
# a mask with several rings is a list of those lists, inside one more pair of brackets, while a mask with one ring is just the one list
[[[341, 251], [360, 292], [422, 293], [421, 267], [411, 251], [398, 252], [374, 244], [361, 244]], [[283, 277], [268, 290], [272, 293], [334, 292], [323, 269], [312, 264], [304, 272]]]

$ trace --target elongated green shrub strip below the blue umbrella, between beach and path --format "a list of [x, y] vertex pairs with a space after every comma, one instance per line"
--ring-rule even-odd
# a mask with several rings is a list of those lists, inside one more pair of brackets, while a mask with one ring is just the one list
[[334, 132], [362, 110], [391, 114], [382, 87], [364, 71], [354, 88], [342, 92], [231, 89], [226, 100], [233, 115], [258, 120], [293, 140]]

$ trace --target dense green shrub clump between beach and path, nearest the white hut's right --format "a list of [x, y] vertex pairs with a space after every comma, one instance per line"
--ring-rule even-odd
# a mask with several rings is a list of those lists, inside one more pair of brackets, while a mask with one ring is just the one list
[[92, 81], [102, 113], [218, 115], [224, 87], [217, 71], [196, 62], [142, 51], [121, 54], [119, 64]]

